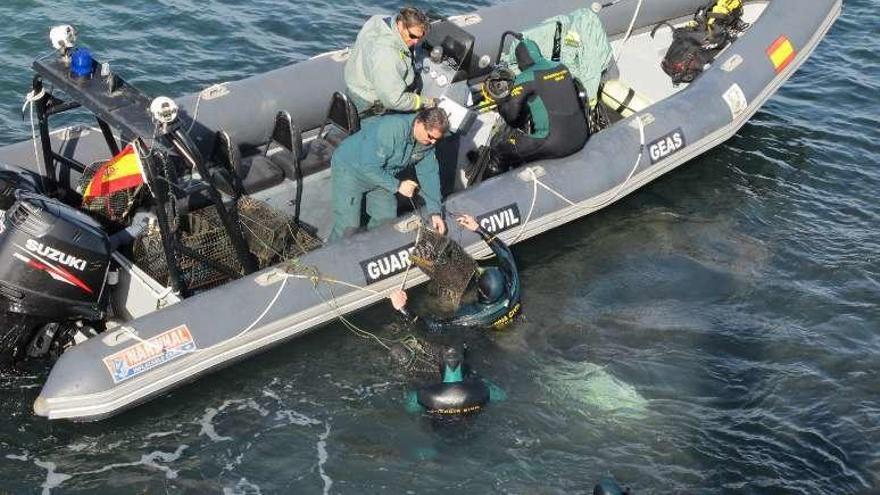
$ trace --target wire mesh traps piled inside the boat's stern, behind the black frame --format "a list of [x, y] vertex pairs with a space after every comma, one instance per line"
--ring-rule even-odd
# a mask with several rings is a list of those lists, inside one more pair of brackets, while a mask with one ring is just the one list
[[[321, 240], [292, 217], [262, 201], [245, 196], [238, 201], [238, 221], [248, 250], [265, 268], [320, 247]], [[242, 275], [232, 240], [214, 207], [188, 214], [178, 227], [181, 244], [204, 260], [178, 256], [183, 282], [190, 289], [219, 285], [230, 273]], [[168, 265], [158, 227], [147, 228], [134, 242], [135, 263], [156, 281], [169, 285]]]

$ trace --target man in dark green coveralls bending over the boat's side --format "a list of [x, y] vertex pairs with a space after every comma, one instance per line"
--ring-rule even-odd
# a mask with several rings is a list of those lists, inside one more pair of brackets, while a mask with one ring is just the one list
[[[366, 196], [370, 216], [367, 228], [397, 217], [400, 193], [412, 198], [421, 189], [425, 212], [434, 230], [443, 234], [446, 224], [440, 215], [440, 165], [434, 143], [449, 129], [449, 119], [440, 108], [417, 114], [393, 114], [372, 118], [363, 128], [342, 141], [330, 160], [333, 183], [333, 230], [330, 240], [339, 239], [360, 227], [361, 201]], [[418, 182], [399, 177], [413, 167]]]

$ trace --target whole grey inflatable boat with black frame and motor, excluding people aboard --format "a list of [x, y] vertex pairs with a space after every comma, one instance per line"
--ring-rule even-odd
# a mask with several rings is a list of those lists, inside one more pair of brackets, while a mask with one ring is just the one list
[[[594, 133], [580, 152], [477, 183], [467, 180], [467, 160], [458, 157], [481, 144], [480, 129], [487, 127], [491, 112], [462, 124], [458, 155], [444, 164], [453, 169], [445, 181], [446, 211], [473, 213], [486, 229], [517, 243], [613, 204], [733, 136], [804, 63], [841, 9], [840, 0], [746, 2], [743, 20], [750, 26], [695, 81], [673, 85], [660, 65], [671, 30], [661, 27], [652, 35], [652, 28], [662, 22], [681, 26], [705, 3], [595, 5], [602, 7], [593, 10], [618, 59], [627, 105], [616, 108], [613, 123]], [[579, 0], [534, 5], [517, 1], [438, 21], [431, 32], [443, 53], [433, 59], [423, 54], [417, 61], [423, 93], [442, 94], [467, 107], [471, 90], [491, 70], [505, 31], [525, 30], [584, 7]], [[76, 314], [66, 314], [60, 323], [39, 321], [41, 340], [27, 344], [29, 350], [51, 345], [52, 336], [65, 329], [72, 335], [36, 399], [36, 414], [74, 420], [116, 414], [381, 301], [404, 283], [426, 281], [409, 268], [417, 211], [375, 230], [323, 242], [332, 226], [329, 156], [357, 120], [345, 99], [334, 96], [344, 90], [347, 56], [347, 50], [339, 50], [211, 86], [177, 99], [176, 119], [174, 105], [148, 98], [97, 62], [85, 82], [73, 80], [69, 60], [34, 63], [38, 138], [0, 148], [0, 162], [8, 165], [4, 173], [18, 177], [7, 182], [20, 190], [4, 206], [0, 250], [10, 251], [10, 267], [0, 271], [0, 298], [12, 301], [3, 305], [7, 319], [27, 333], [36, 331], [36, 320], [21, 313], [63, 299], [43, 304], [33, 298], [53, 294], [52, 284], [79, 290], [71, 296], [76, 304], [63, 305], [63, 311], [74, 308]], [[94, 113], [99, 125], [49, 128], [49, 116], [77, 106]], [[155, 199], [116, 205], [123, 225], [105, 236], [101, 232], [113, 222], [76, 211], [82, 209], [83, 177], [95, 173], [83, 164], [102, 163], [120, 151], [120, 143], [129, 142], [143, 160], [142, 194]], [[170, 197], [173, 205], [162, 199]], [[248, 201], [268, 212], [264, 220], [282, 219], [268, 227], [258, 221], [257, 227], [283, 226], [290, 233], [294, 226], [301, 234], [295, 239], [298, 249], [257, 259], [241, 227], [242, 202]], [[184, 213], [205, 210], [213, 215], [203, 217], [205, 223], [225, 233], [232, 259], [226, 266], [205, 259], [197, 245], [181, 242]], [[447, 224], [471, 255], [490, 254], [477, 236]], [[85, 247], [80, 242], [80, 250], [52, 247], [44, 238], [47, 232], [67, 241], [92, 241]], [[155, 235], [145, 234], [151, 232]], [[141, 254], [153, 249], [161, 266], [145, 266], [132, 244]], [[18, 275], [10, 275], [13, 265]], [[220, 275], [196, 283], [187, 272], [193, 265]], [[25, 269], [33, 273], [20, 275]], [[42, 294], [28, 289], [40, 284], [47, 287]]]

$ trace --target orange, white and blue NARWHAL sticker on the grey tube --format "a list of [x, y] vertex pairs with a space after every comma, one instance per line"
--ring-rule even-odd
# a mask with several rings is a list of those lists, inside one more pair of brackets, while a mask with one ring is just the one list
[[194, 350], [192, 333], [180, 325], [105, 357], [104, 366], [119, 383]]

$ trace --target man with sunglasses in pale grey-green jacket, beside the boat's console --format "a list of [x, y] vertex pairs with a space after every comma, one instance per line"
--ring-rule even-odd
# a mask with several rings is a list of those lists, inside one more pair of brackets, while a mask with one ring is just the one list
[[345, 86], [358, 113], [414, 112], [433, 106], [415, 92], [413, 48], [428, 32], [428, 17], [404, 7], [393, 19], [375, 15], [358, 33], [345, 64]]

